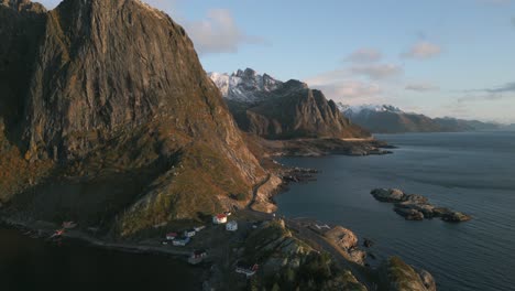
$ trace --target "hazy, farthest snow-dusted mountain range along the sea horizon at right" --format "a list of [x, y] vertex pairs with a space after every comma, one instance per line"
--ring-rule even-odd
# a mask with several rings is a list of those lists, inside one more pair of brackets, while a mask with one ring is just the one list
[[405, 112], [390, 105], [348, 106], [338, 104], [338, 108], [353, 123], [376, 133], [458, 132], [498, 129], [496, 123], [456, 118], [430, 118], [425, 115]]

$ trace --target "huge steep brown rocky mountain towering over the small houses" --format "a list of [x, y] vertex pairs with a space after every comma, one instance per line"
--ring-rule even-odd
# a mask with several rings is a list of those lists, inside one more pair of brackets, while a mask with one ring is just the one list
[[264, 176], [165, 13], [2, 0], [0, 40], [0, 203], [12, 213], [133, 235], [244, 205]]

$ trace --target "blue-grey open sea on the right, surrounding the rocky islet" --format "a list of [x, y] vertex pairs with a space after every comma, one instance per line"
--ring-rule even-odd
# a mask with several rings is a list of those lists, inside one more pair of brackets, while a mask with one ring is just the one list
[[[372, 238], [381, 257], [398, 255], [429, 270], [439, 290], [515, 290], [515, 132], [386, 134], [392, 155], [293, 158], [318, 181], [277, 197], [291, 217], [315, 217]], [[473, 220], [406, 222], [374, 187], [423, 194]]]

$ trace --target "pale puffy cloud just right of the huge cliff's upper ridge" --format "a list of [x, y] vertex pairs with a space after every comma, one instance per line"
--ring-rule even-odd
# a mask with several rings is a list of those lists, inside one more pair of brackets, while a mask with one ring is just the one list
[[205, 20], [184, 24], [199, 54], [235, 53], [242, 44], [266, 43], [242, 32], [227, 9], [211, 9]]

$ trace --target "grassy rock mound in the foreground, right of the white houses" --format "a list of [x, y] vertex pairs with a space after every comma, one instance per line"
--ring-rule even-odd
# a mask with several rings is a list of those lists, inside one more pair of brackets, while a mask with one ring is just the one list
[[259, 263], [256, 290], [359, 290], [366, 288], [350, 270], [298, 240], [283, 220], [272, 220], [245, 240], [242, 259]]

